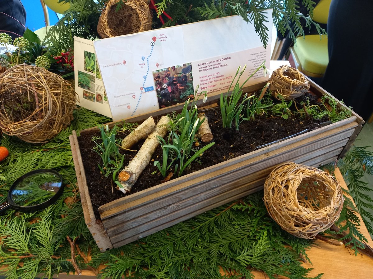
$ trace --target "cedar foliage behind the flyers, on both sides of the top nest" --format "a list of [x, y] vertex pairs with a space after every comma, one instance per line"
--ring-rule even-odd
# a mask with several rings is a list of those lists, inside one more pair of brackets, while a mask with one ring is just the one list
[[[70, 9], [65, 15], [48, 31], [46, 41], [58, 51], [73, 47], [73, 36], [86, 39], [98, 38], [97, 23], [104, 6], [104, 0], [60, 0], [70, 4]], [[247, 2], [247, 3], [246, 3]], [[123, 1], [118, 1], [118, 9], [122, 7]], [[289, 36], [295, 41], [297, 36], [304, 36], [303, 28], [314, 26], [320, 34], [325, 30], [319, 24], [313, 22], [312, 0], [303, 0], [308, 14], [301, 14], [298, 0], [161, 0], [156, 3], [157, 16], [166, 12], [172, 19], [165, 17], [165, 23], [154, 22], [154, 28], [168, 27], [201, 20], [214, 19], [217, 17], [239, 15], [245, 22], [254, 25], [256, 33], [267, 47], [269, 36], [266, 9], [272, 10], [273, 23], [276, 28], [284, 34], [289, 31]], [[247, 13], [249, 13], [247, 15]], [[305, 20], [302, 24], [301, 19]], [[293, 28], [294, 26], [294, 28]], [[58, 34], [58, 35], [57, 35]]]

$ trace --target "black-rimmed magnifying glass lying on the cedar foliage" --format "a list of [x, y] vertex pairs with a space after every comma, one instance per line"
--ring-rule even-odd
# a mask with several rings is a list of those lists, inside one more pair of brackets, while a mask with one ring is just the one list
[[8, 201], [0, 205], [0, 213], [12, 207], [32, 212], [48, 207], [61, 196], [62, 177], [49, 169], [33, 170], [19, 177], [8, 192]]

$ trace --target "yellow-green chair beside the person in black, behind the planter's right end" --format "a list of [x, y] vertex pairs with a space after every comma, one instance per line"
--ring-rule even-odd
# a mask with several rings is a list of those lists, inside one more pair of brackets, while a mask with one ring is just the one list
[[[331, 0], [321, 0], [313, 10], [313, 20], [327, 23]], [[306, 35], [298, 37], [290, 48], [295, 66], [310, 77], [322, 77], [329, 62], [327, 36]]]

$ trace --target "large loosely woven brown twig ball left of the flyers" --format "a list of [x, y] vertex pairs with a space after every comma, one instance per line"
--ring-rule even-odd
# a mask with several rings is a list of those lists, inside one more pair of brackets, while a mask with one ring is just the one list
[[76, 95], [57, 74], [16, 65], [0, 75], [0, 128], [23, 141], [47, 142], [73, 119]]

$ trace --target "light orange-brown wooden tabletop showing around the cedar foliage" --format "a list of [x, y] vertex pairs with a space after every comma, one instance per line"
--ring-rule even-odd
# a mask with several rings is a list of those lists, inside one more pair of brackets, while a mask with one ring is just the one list
[[[343, 180], [342, 174], [338, 169], [335, 171], [335, 176], [341, 183], [341, 186], [347, 189], [346, 183]], [[360, 231], [368, 239], [367, 244], [372, 246], [372, 238], [370, 237], [367, 228], [365, 227], [363, 220], [361, 220]], [[316, 240], [315, 244], [307, 251], [308, 257], [312, 264], [304, 263], [305, 268], [313, 268], [308, 274], [309, 277], [317, 276], [319, 273], [324, 273], [322, 279], [366, 279], [373, 278], [373, 257], [365, 254], [358, 254], [357, 256], [351, 251], [350, 248], [345, 246], [333, 246], [327, 244], [324, 241]], [[268, 279], [263, 272], [253, 271], [255, 278]], [[59, 279], [72, 279], [78, 278], [78, 275], [66, 275], [59, 274]], [[95, 279], [96, 275], [91, 272], [84, 270], [79, 276], [81, 279]], [[279, 277], [285, 278], [285, 277]]]

